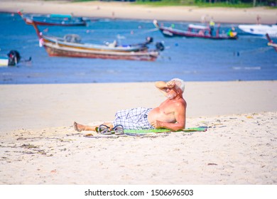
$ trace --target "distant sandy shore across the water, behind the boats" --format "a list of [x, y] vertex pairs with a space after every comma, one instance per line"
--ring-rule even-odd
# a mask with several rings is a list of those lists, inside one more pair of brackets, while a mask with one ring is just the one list
[[80, 2], [67, 1], [0, 1], [1, 12], [16, 12], [23, 9], [26, 13], [39, 14], [75, 14], [97, 18], [129, 18], [165, 21], [200, 22], [202, 16], [207, 20], [213, 16], [217, 23], [256, 23], [256, 16], [261, 17], [261, 23], [277, 22], [276, 9], [263, 7], [250, 9], [233, 8], [198, 8], [196, 6], [135, 6], [129, 2]]

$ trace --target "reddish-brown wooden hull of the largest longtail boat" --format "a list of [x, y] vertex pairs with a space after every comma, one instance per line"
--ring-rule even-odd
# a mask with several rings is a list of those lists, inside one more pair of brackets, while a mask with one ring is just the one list
[[141, 52], [114, 52], [100, 50], [74, 49], [53, 43], [44, 43], [46, 52], [51, 57], [69, 57], [69, 58], [99, 58], [113, 60], [145, 60], [154, 61], [158, 58], [157, 51]]

